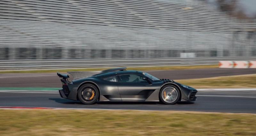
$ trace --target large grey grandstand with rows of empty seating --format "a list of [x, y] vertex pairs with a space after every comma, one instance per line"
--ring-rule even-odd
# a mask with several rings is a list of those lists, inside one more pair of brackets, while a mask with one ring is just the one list
[[203, 3], [0, 0], [0, 59], [256, 55], [244, 29]]

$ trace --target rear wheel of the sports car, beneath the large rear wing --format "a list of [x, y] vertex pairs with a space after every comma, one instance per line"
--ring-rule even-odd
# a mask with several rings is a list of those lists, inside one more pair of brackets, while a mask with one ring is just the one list
[[77, 97], [83, 104], [94, 104], [99, 98], [99, 90], [92, 84], [84, 84], [79, 88]]

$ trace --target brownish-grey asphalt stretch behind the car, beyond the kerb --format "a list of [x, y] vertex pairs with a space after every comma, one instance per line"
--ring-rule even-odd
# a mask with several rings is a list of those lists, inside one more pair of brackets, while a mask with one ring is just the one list
[[[88, 72], [88, 75], [95, 72]], [[160, 79], [193, 79], [228, 75], [256, 74], [256, 68], [211, 68], [148, 71]], [[61, 87], [60, 78], [56, 73], [17, 73], [0, 74], [0, 87]]]

